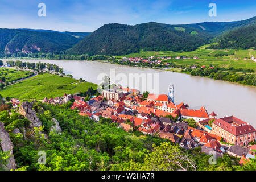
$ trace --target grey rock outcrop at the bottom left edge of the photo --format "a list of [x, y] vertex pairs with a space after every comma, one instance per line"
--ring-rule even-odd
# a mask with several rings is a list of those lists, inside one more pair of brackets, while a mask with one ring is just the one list
[[5, 126], [3, 126], [2, 122], [0, 122], [0, 140], [1, 140], [0, 144], [1, 144], [2, 151], [10, 152], [9, 154], [10, 158], [8, 159], [8, 162], [5, 167], [9, 170], [17, 169], [17, 165], [15, 163], [15, 159], [13, 156], [13, 147], [14, 147], [13, 142], [11, 142], [9, 134], [6, 132]]

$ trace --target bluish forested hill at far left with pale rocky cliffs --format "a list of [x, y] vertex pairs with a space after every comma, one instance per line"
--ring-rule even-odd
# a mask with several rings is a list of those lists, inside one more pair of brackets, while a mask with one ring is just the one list
[[88, 33], [0, 28], [0, 53], [59, 53], [71, 48]]

